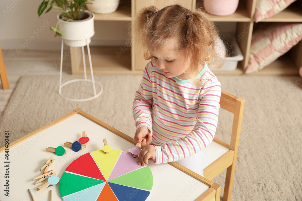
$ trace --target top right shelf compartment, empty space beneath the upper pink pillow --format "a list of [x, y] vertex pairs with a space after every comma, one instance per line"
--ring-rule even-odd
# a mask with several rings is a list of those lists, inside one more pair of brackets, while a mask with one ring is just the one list
[[302, 8], [299, 2], [294, 2], [275, 16], [260, 22], [302, 22]]

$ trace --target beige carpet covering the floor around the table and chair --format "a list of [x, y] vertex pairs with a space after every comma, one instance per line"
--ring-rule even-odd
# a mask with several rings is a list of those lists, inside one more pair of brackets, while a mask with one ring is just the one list
[[[301, 78], [218, 78], [222, 90], [246, 100], [232, 200], [302, 200]], [[70, 102], [58, 94], [59, 76], [21, 77], [2, 114], [1, 132], [10, 130], [12, 142], [79, 107], [134, 137], [132, 102], [141, 76], [98, 76], [97, 80], [104, 87], [101, 96], [87, 102]], [[64, 87], [62, 93], [77, 99], [87, 97], [92, 87], [79, 84]], [[229, 112], [220, 110], [216, 137], [230, 140], [222, 133], [231, 130], [231, 120]], [[223, 189], [224, 180], [225, 172], [213, 181]]]

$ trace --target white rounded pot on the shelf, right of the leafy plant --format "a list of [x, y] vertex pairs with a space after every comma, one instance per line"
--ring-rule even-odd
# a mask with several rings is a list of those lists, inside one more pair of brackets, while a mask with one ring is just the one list
[[112, 13], [116, 11], [120, 0], [88, 0], [92, 4], [86, 4], [89, 11], [95, 13]]

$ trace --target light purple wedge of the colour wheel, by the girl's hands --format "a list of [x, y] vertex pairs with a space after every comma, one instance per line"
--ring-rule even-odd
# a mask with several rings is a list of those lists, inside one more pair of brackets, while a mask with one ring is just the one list
[[122, 151], [120, 158], [117, 160], [109, 178], [107, 181], [119, 177], [121, 175], [127, 174], [134, 170], [143, 168], [143, 166], [137, 164], [137, 158], [133, 157], [133, 154], [127, 151]]

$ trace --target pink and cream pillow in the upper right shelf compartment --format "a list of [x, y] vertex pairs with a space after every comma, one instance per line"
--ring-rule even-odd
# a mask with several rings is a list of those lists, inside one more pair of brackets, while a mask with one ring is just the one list
[[255, 22], [274, 16], [296, 0], [258, 0], [255, 10]]

